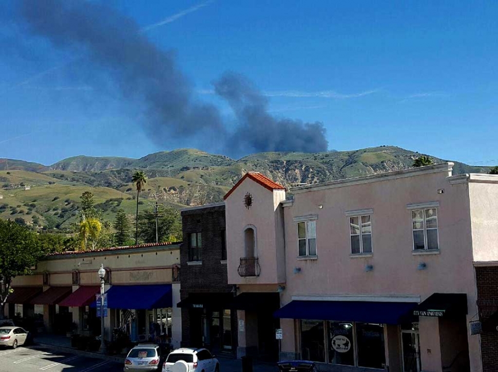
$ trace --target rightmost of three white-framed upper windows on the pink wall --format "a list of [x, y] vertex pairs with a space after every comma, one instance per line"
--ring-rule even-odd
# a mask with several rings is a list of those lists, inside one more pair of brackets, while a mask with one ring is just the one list
[[439, 249], [437, 237], [437, 209], [413, 209], [413, 250]]

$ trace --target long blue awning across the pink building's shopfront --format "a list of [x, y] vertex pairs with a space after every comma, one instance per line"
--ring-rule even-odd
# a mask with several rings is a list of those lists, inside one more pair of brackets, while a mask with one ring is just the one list
[[337, 320], [398, 324], [417, 304], [368, 301], [291, 301], [275, 311], [275, 318]]

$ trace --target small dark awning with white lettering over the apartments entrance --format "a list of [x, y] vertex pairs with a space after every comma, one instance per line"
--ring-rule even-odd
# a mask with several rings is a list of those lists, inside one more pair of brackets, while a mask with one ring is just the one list
[[413, 309], [413, 315], [419, 317], [448, 318], [467, 315], [467, 312], [465, 293], [433, 293]]

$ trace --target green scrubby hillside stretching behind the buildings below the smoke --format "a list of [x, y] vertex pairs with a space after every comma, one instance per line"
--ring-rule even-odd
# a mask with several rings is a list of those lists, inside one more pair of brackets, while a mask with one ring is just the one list
[[[157, 152], [140, 159], [74, 156], [51, 166], [0, 159], [0, 218], [23, 218], [35, 226], [65, 229], [76, 221], [79, 197], [86, 190], [95, 195], [104, 219], [113, 220], [119, 209], [133, 215], [136, 190], [131, 177], [137, 170], [148, 177], [139, 201], [140, 210], [145, 210], [156, 200], [174, 208], [221, 201], [247, 171], [260, 171], [292, 187], [406, 169], [420, 155], [380, 146], [319, 153], [267, 152], [239, 160], [196, 149]], [[432, 158], [436, 163], [446, 161]], [[488, 169], [455, 162], [453, 174]]]

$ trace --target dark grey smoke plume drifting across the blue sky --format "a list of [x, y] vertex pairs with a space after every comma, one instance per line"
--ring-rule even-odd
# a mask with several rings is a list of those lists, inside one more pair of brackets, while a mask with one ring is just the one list
[[[95, 2], [24, 0], [21, 20], [58, 48], [83, 49], [103, 67], [130, 103], [145, 104], [144, 128], [152, 141], [206, 140], [204, 147], [240, 155], [260, 151], [325, 151], [321, 123], [276, 119], [266, 98], [242, 75], [225, 73], [215, 91], [236, 116], [227, 125], [219, 109], [196, 100], [175, 54], [152, 44], [132, 19]], [[211, 143], [209, 143], [211, 142]]]

